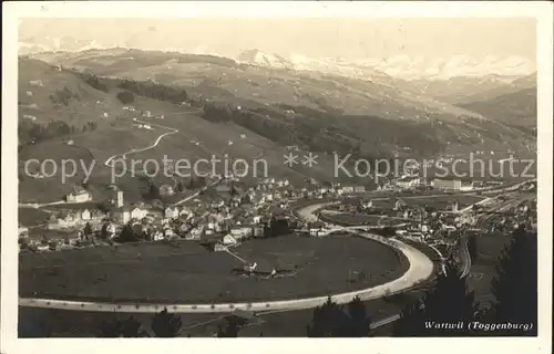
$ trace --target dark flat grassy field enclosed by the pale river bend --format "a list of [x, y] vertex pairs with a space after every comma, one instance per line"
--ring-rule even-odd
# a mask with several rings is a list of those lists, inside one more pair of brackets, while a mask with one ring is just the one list
[[[184, 303], [284, 300], [377, 285], [408, 267], [397, 251], [361, 238], [287, 236], [252, 240], [234, 251], [250, 262], [293, 269], [296, 275], [242, 278], [232, 270], [243, 263], [230, 254], [186, 241], [124, 244], [21, 256], [20, 295]], [[353, 282], [355, 272], [366, 277]]]

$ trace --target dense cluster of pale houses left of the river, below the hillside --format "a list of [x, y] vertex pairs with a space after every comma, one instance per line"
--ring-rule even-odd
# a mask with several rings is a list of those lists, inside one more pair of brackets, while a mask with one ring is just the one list
[[[162, 188], [161, 188], [162, 189]], [[68, 204], [51, 211], [44, 222], [48, 231], [83, 238], [89, 225], [93, 235], [116, 238], [126, 225], [148, 240], [183, 238], [187, 240], [219, 239], [224, 244], [239, 243], [252, 237], [267, 235], [267, 226], [276, 210], [288, 207], [291, 186], [288, 180], [269, 178], [256, 187], [237, 187], [224, 181], [187, 206], [160, 206], [137, 202], [126, 205], [123, 191], [111, 186], [110, 204], [102, 207], [92, 202], [91, 195], [82, 187], [74, 187], [66, 196]], [[162, 192], [161, 194], [170, 194]], [[201, 200], [202, 199], [202, 200]], [[20, 232], [27, 237], [28, 233]]]

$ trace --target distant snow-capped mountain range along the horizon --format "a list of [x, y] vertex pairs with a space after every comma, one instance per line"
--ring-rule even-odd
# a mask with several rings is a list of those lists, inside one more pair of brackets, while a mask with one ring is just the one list
[[[39, 52], [63, 51], [79, 52], [90, 49], [111, 49], [121, 45], [105, 45], [96, 41], [76, 40], [71, 37], [63, 38], [34, 38], [21, 39], [19, 42], [20, 54]], [[125, 46], [125, 45], [123, 45]], [[161, 49], [152, 49], [161, 50]], [[194, 54], [218, 55], [206, 48], [193, 50], [162, 49], [163, 51], [187, 52]], [[225, 56], [225, 55], [218, 55]], [[274, 69], [289, 69], [315, 71], [327, 74], [352, 76], [357, 79], [375, 80], [380, 76], [392, 76], [403, 80], [448, 80], [456, 76], [488, 76], [503, 77], [530, 75], [536, 71], [535, 63], [521, 56], [493, 56], [476, 60], [460, 54], [451, 58], [424, 58], [396, 55], [391, 58], [370, 58], [360, 60], [343, 60], [340, 58], [314, 59], [297, 53], [279, 55], [259, 50], [248, 50], [233, 58], [237, 62]]]

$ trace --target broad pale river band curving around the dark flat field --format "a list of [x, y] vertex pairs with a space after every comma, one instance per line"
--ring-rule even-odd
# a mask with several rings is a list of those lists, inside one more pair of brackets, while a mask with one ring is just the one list
[[[299, 210], [300, 215], [314, 216], [312, 212], [325, 205], [311, 205]], [[386, 239], [378, 235], [356, 230], [356, 228], [342, 228], [349, 232], [356, 233], [366, 239], [375, 240], [386, 243], [390, 247], [400, 250], [409, 260], [410, 267], [408, 271], [400, 278], [392, 280], [388, 283], [377, 285], [373, 288], [350, 291], [332, 296], [337, 303], [348, 303], [355, 296], [361, 300], [375, 300], [386, 295], [403, 292], [407, 289], [425, 281], [433, 272], [432, 261], [416, 248], [402, 243], [398, 240]], [[358, 229], [360, 227], [357, 227]], [[316, 296], [308, 299], [295, 299], [284, 301], [268, 301], [268, 302], [253, 302], [253, 303], [219, 303], [219, 304], [152, 304], [152, 303], [107, 303], [107, 302], [86, 302], [86, 301], [64, 301], [53, 299], [19, 299], [20, 306], [29, 308], [47, 308], [60, 310], [75, 310], [75, 311], [93, 311], [93, 312], [141, 312], [141, 313], [155, 313], [162, 309], [167, 308], [175, 313], [228, 313], [236, 309], [246, 311], [291, 311], [305, 310], [316, 308], [327, 301], [327, 296]], [[382, 321], [394, 321], [384, 319]], [[381, 322], [382, 322], [381, 321]], [[384, 324], [384, 322], [383, 322]]]

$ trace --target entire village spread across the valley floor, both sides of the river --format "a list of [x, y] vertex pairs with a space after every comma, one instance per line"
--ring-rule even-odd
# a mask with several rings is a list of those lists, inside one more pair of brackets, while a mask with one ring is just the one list
[[[386, 237], [424, 243], [448, 254], [460, 235], [481, 231], [480, 210], [486, 204], [499, 202], [492, 201], [497, 198], [505, 200], [502, 196], [484, 195], [497, 188], [497, 184], [455, 178], [428, 183], [422, 177], [403, 176], [375, 190], [367, 190], [363, 185], [320, 184], [314, 179], [301, 188], [288, 179], [265, 178], [250, 186], [230, 174], [212, 179], [204, 178], [204, 186], [193, 195], [165, 205], [164, 198], [175, 200], [179, 194], [185, 195], [182, 186], [151, 186], [158, 199], [135, 204], [129, 204], [116, 185], [107, 186], [112, 197], [101, 201], [93, 200], [83, 186], [74, 186], [62, 202], [41, 208], [48, 214], [45, 220], [19, 227], [20, 250], [62, 251], [182, 240], [226, 251], [252, 238], [341, 233], [336, 228], [339, 223], [366, 225]], [[318, 218], [304, 218], [296, 212], [299, 207], [316, 202], [326, 206]], [[488, 223], [489, 231], [513, 230], [521, 223], [536, 229], [535, 206], [522, 201], [510, 218], [499, 214], [495, 223]]]

